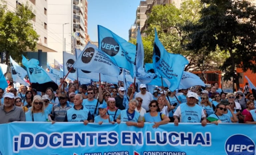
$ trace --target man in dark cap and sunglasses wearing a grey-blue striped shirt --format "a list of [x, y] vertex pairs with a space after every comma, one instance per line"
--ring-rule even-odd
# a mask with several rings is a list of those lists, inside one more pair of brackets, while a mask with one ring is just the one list
[[[46, 100], [44, 100], [44, 104], [45, 102]], [[52, 120], [56, 122], [63, 122], [67, 114], [67, 110], [69, 110], [70, 108], [72, 108], [72, 106], [70, 106], [67, 103], [67, 94], [59, 95], [59, 103], [54, 105], [52, 108], [52, 113], [51, 113]]]

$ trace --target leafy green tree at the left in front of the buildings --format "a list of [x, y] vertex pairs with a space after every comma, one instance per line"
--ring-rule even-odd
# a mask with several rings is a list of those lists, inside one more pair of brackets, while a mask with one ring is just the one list
[[9, 55], [21, 61], [21, 54], [27, 47], [36, 50], [38, 35], [33, 29], [32, 19], [35, 15], [31, 7], [17, 6], [15, 12], [7, 10], [5, 1], [0, 4], [0, 51], [6, 52], [6, 64]]

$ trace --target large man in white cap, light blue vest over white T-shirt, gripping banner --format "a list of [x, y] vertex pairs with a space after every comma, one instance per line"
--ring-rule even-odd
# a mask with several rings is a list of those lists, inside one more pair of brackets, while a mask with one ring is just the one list
[[187, 94], [187, 103], [180, 104], [177, 110], [173, 114], [174, 124], [178, 126], [180, 117], [180, 122], [182, 123], [200, 123], [202, 126], [207, 124], [206, 116], [202, 107], [196, 104], [198, 100], [197, 94], [189, 92]]

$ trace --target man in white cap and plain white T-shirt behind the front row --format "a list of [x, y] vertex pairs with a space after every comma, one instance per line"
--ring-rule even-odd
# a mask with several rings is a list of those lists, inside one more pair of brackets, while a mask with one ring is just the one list
[[135, 95], [135, 98], [142, 98], [142, 108], [149, 112], [149, 104], [153, 100], [153, 95], [147, 91], [147, 86], [145, 84], [140, 85], [140, 92]]

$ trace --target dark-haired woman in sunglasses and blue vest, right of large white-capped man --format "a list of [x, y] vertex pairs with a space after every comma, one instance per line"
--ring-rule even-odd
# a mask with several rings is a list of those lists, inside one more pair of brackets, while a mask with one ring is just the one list
[[215, 113], [207, 117], [207, 122], [215, 123], [216, 125], [218, 125], [218, 123], [231, 123], [231, 122], [238, 121], [236, 115], [233, 112], [231, 112], [232, 117], [230, 117], [229, 115], [224, 114], [224, 112], [226, 111], [227, 111], [227, 108], [225, 104], [222, 104], [222, 103], [218, 104], [216, 106]]

